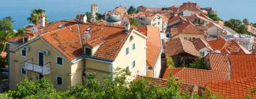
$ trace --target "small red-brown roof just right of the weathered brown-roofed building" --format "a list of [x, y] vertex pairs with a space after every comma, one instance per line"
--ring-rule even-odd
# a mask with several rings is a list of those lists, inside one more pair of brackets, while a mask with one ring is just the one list
[[213, 49], [210, 47], [208, 42], [206, 42], [206, 40], [203, 40], [201, 38], [196, 38], [196, 40], [193, 41], [193, 45], [196, 47], [196, 50], [201, 50], [204, 47], [207, 47], [209, 50], [213, 51]]

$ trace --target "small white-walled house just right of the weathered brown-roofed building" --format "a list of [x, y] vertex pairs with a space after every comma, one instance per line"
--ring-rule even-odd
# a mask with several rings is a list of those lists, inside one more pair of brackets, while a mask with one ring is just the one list
[[196, 40], [193, 40], [193, 45], [196, 47], [196, 50], [200, 52], [202, 57], [206, 57], [207, 54], [213, 53], [214, 50], [206, 40], [203, 40], [201, 38], [197, 38]]

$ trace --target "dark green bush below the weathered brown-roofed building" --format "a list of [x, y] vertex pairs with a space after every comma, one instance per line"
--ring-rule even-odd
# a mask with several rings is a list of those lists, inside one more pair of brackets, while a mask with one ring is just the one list
[[196, 59], [195, 61], [191, 62], [191, 64], [189, 64], [189, 67], [193, 69], [207, 69], [204, 58]]

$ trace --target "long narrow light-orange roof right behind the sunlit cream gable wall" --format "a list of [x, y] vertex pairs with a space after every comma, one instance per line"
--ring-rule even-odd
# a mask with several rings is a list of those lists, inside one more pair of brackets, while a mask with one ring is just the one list
[[159, 28], [147, 25], [139, 27], [137, 30], [148, 37], [146, 40], [146, 62], [149, 68], [153, 68], [161, 52]]

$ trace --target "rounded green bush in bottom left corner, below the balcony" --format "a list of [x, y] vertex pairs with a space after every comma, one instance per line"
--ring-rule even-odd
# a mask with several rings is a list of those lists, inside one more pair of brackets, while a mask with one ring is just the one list
[[18, 83], [14, 91], [9, 91], [8, 95], [12, 98], [61, 98], [59, 93], [53, 88], [50, 81], [42, 78], [40, 80], [30, 81], [23, 78]]

